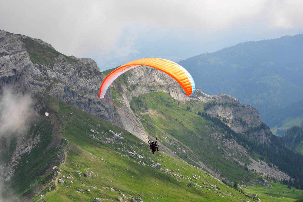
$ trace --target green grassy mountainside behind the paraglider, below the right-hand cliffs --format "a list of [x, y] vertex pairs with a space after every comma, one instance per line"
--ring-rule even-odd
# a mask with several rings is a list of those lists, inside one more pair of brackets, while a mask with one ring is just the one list
[[[151, 98], [152, 96], [157, 96], [157, 103], [160, 103], [157, 105], [157, 110], [165, 118], [161, 125], [161, 129], [165, 131], [165, 134], [160, 134], [159, 137], [162, 144], [171, 148], [172, 151], [177, 151], [178, 145], [172, 144], [172, 140], [177, 139], [181, 141], [198, 155], [198, 159], [196, 159], [196, 156], [192, 156], [187, 152], [188, 158], [186, 161], [193, 165], [196, 164], [194, 161], [191, 161], [191, 159], [207, 162], [211, 169], [219, 170], [221, 175], [227, 177], [229, 180], [240, 182], [241, 180], [251, 179], [251, 177], [253, 177], [244, 167], [223, 157], [223, 155], [226, 155], [223, 147], [218, 149], [218, 141], [210, 136], [210, 134], [219, 134], [222, 133], [222, 131], [214, 126], [211, 121], [205, 120], [205, 118], [194, 112], [198, 110], [202, 112], [204, 108], [203, 104], [198, 104], [196, 101], [178, 104], [177, 100], [172, 99], [168, 94], [163, 92], [145, 94], [140, 96], [140, 98], [147, 103], [147, 106], [153, 106], [155, 98]], [[137, 102], [133, 102], [131, 105], [138, 104]], [[190, 106], [193, 111], [188, 111], [187, 106]], [[138, 110], [138, 114], [140, 114], [140, 110]], [[144, 118], [146, 118], [146, 116], [144, 116]], [[152, 122], [149, 117], [147, 118]], [[149, 130], [153, 132], [155, 129], [150, 128]], [[182, 147], [182, 145], [180, 147]], [[186, 148], [184, 149], [187, 150]], [[233, 153], [235, 151], [230, 152]], [[180, 157], [184, 158], [184, 156]], [[239, 158], [245, 163], [249, 161], [247, 157]]]

